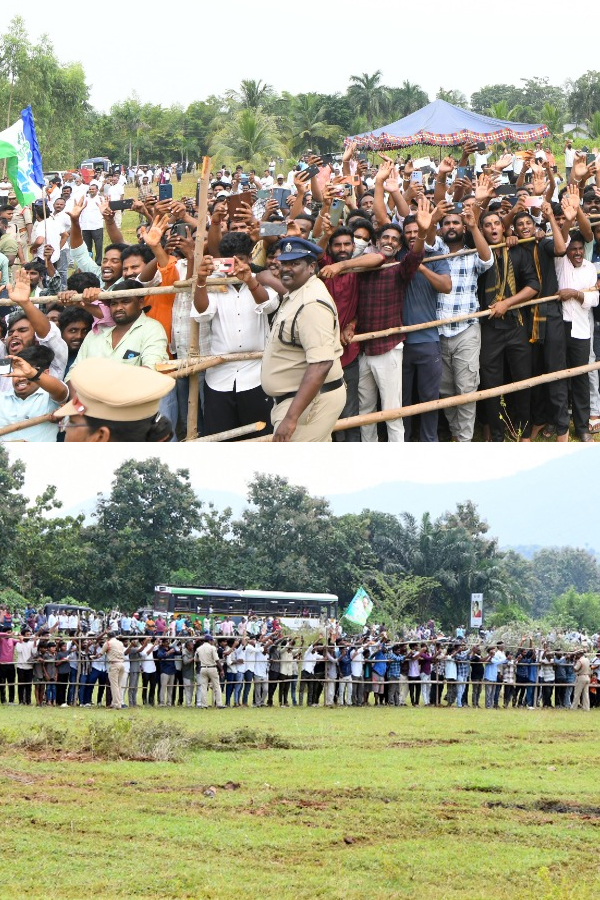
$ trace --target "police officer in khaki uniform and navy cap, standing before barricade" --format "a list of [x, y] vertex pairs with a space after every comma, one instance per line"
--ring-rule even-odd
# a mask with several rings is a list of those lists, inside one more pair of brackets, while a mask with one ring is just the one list
[[279, 307], [262, 361], [262, 386], [273, 397], [274, 441], [330, 441], [346, 402], [337, 310], [315, 275], [320, 247], [302, 238], [279, 242]]

